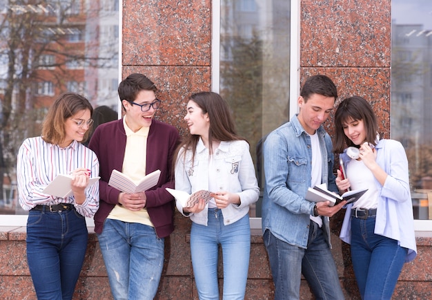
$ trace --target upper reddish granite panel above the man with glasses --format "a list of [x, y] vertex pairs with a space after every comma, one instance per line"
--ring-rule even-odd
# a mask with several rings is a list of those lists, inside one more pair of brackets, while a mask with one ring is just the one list
[[127, 0], [123, 65], [210, 66], [211, 3]]

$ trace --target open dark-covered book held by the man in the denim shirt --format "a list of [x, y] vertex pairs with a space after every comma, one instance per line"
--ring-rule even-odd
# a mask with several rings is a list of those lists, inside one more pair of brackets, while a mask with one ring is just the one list
[[312, 202], [330, 201], [330, 206], [340, 203], [340, 201], [346, 200], [346, 204], [357, 201], [368, 189], [356, 189], [354, 191], [346, 191], [342, 196], [328, 191], [326, 184], [315, 185], [315, 187], [309, 187], [306, 193], [306, 200]]

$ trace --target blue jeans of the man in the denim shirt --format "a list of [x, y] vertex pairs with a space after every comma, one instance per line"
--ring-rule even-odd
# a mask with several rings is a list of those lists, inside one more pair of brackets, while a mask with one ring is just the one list
[[276, 300], [300, 299], [301, 274], [316, 299], [344, 299], [335, 261], [317, 223], [310, 223], [307, 249], [279, 240], [268, 229], [264, 232], [264, 245], [275, 283]]

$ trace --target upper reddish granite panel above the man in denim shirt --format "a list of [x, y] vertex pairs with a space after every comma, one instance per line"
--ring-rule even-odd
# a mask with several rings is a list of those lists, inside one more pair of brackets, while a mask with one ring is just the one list
[[301, 3], [300, 66], [390, 66], [391, 0]]

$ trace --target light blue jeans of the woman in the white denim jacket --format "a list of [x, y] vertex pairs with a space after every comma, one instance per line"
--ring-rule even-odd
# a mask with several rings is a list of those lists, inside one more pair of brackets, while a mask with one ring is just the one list
[[224, 262], [224, 298], [244, 299], [251, 252], [249, 216], [224, 225], [220, 209], [208, 209], [207, 226], [192, 223], [190, 254], [199, 299], [219, 300], [217, 259], [222, 246]]

